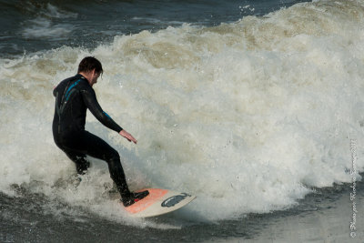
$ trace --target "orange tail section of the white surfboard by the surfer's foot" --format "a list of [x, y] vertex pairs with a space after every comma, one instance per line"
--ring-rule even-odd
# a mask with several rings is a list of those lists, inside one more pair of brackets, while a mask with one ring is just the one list
[[[140, 190], [144, 191], [146, 189]], [[126, 211], [131, 214], [136, 214], [138, 212], [144, 211], [151, 205], [153, 205], [160, 197], [163, 197], [167, 194], [168, 190], [166, 189], [158, 189], [158, 188], [147, 188], [149, 191], [149, 195], [144, 197], [140, 201], [137, 201], [133, 205], [126, 207]]]

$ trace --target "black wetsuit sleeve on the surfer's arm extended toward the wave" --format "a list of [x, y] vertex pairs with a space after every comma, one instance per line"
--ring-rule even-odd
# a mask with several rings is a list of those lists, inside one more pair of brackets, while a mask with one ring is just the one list
[[87, 108], [97, 118], [98, 121], [100, 121], [105, 127], [108, 127], [117, 133], [123, 130], [122, 127], [118, 126], [116, 122], [110, 116], [108, 116], [105, 111], [103, 111], [97, 102], [95, 91], [91, 87], [81, 90], [81, 94], [84, 98]]

